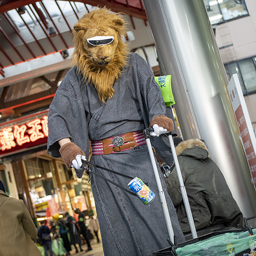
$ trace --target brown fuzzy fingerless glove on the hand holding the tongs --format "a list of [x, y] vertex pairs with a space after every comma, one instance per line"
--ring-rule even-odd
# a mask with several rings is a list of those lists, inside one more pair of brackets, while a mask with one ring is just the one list
[[71, 169], [72, 161], [77, 155], [85, 156], [85, 153], [74, 142], [67, 142], [60, 148], [60, 153], [64, 164]]

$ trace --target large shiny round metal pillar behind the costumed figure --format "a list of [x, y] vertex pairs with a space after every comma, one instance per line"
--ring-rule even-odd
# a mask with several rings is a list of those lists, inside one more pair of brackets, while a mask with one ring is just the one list
[[244, 216], [255, 216], [256, 191], [203, 0], [143, 3], [163, 71], [172, 75], [174, 107], [184, 139], [205, 141]]

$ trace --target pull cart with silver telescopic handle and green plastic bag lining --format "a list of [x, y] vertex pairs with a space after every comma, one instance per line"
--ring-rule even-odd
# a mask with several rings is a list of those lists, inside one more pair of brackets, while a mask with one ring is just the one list
[[[177, 175], [178, 175], [178, 179], [179, 179], [179, 183], [180, 183], [180, 189], [182, 192], [182, 197], [183, 197], [183, 201], [184, 201], [184, 205], [186, 208], [186, 213], [188, 216], [189, 225], [190, 225], [191, 233], [192, 233], [191, 240], [181, 243], [179, 245], [175, 244], [172, 223], [170, 220], [170, 215], [169, 215], [169, 211], [167, 208], [165, 195], [164, 195], [162, 185], [160, 182], [159, 173], [157, 171], [157, 165], [156, 165], [156, 161], [155, 161], [155, 157], [154, 157], [154, 152], [153, 152], [152, 145], [150, 142], [150, 131], [153, 131], [153, 128], [144, 129], [143, 132], [144, 132], [144, 137], [146, 139], [150, 159], [152, 162], [152, 166], [153, 166], [153, 170], [154, 170], [154, 174], [155, 174], [155, 178], [156, 178], [156, 182], [157, 182], [157, 186], [158, 186], [159, 196], [160, 196], [161, 203], [163, 206], [164, 216], [165, 216], [166, 225], [167, 225], [167, 229], [168, 229], [168, 235], [169, 235], [169, 238], [167, 238], [167, 240], [171, 245], [171, 247], [169, 247], [169, 248], [165, 248], [165, 249], [159, 250], [157, 252], [154, 252], [153, 256], [178, 256], [178, 254], [176, 253], [176, 250], [179, 251], [179, 255], [182, 255], [182, 256], [183, 255], [186, 255], [186, 256], [187, 255], [188, 256], [215, 255], [214, 253], [215, 253], [216, 248], [222, 248], [222, 251], [218, 252], [219, 254], [216, 252], [216, 255], [218, 255], [218, 256], [224, 256], [224, 255], [235, 256], [235, 254], [234, 254], [235, 251], [236, 251], [236, 256], [243, 256], [243, 255], [249, 255], [249, 254], [244, 254], [244, 253], [250, 253], [250, 252], [252, 252], [251, 250], [256, 250], [256, 246], [254, 246], [253, 248], [251, 248], [251, 246], [250, 246], [252, 244], [256, 245], [256, 229], [252, 230], [252, 228], [250, 228], [247, 225], [246, 218], [244, 218], [245, 228], [240, 227], [241, 229], [214, 231], [209, 234], [197, 237], [197, 233], [196, 233], [196, 229], [195, 229], [194, 221], [193, 221], [193, 217], [192, 217], [192, 211], [191, 211], [191, 207], [189, 204], [188, 195], [186, 192], [186, 188], [184, 186], [182, 173], [181, 173], [180, 165], [178, 162], [178, 157], [177, 157], [174, 142], [173, 142], [173, 136], [172, 136], [172, 133], [170, 132], [170, 133], [167, 133], [166, 135], [168, 136], [168, 139], [170, 142], [170, 147], [172, 150], [173, 159], [174, 159], [174, 163], [175, 163], [175, 167], [176, 167], [176, 171], [177, 171]], [[226, 238], [226, 236], [227, 236], [227, 238]], [[231, 239], [232, 236], [235, 238], [234, 240]], [[223, 241], [224, 242], [222, 244], [220, 243], [220, 245], [215, 247], [214, 243], [212, 242], [215, 239], [219, 239], [221, 242], [223, 242]], [[227, 239], [227, 240], [225, 240], [225, 239]], [[204, 244], [201, 245], [201, 243], [204, 243]], [[225, 243], [227, 243], [227, 245]], [[201, 248], [201, 252], [193, 251], [194, 248], [200, 248], [200, 245], [202, 247], [205, 246], [206, 248]], [[187, 249], [187, 252], [184, 254], [183, 251], [186, 251], [186, 246], [192, 246], [192, 249], [191, 249], [191, 251], [190, 251], [190, 249]], [[208, 250], [208, 253], [207, 253], [207, 250]]]

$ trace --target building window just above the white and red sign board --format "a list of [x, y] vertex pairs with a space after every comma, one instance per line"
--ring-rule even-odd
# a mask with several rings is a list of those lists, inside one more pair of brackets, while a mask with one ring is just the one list
[[237, 73], [244, 95], [256, 93], [256, 57], [224, 64], [228, 78]]

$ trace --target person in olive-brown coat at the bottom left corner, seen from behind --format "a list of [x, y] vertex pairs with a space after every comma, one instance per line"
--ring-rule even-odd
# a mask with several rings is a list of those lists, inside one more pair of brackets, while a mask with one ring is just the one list
[[0, 256], [42, 256], [37, 228], [23, 200], [9, 197], [0, 181]]

